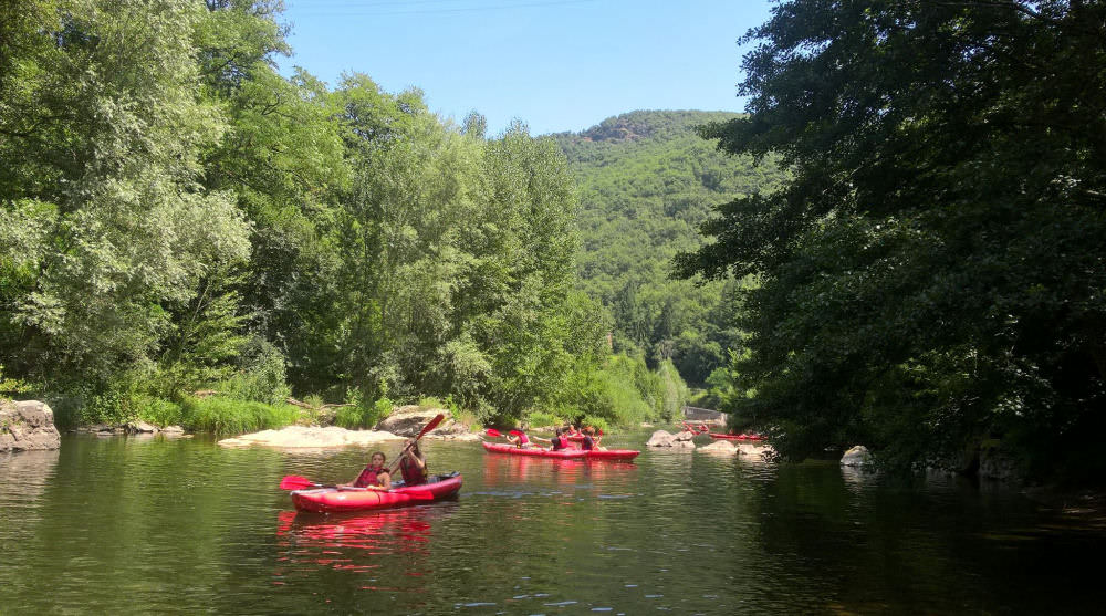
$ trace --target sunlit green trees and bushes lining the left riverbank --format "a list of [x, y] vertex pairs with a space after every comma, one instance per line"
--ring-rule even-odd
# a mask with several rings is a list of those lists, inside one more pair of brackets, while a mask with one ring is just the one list
[[611, 403], [636, 373], [576, 290], [552, 139], [361, 74], [283, 77], [278, 0], [0, 11], [8, 389], [218, 431], [293, 420], [290, 393], [351, 403], [348, 425], [421, 395], [482, 420], [671, 413], [656, 384]]

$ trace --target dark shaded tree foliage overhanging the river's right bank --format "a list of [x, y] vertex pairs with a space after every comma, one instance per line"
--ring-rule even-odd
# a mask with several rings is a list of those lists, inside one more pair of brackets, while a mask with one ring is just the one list
[[749, 39], [751, 115], [705, 136], [791, 178], [679, 260], [761, 276], [731, 410], [793, 457], [1100, 478], [1106, 6], [795, 0]]

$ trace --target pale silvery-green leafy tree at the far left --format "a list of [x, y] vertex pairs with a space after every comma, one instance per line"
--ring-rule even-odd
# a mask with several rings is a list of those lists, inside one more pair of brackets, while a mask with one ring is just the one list
[[249, 257], [232, 196], [197, 181], [226, 128], [199, 95], [191, 36], [205, 10], [72, 0], [6, 12], [0, 227], [28, 231], [0, 268], [0, 348], [36, 380], [105, 383], [150, 364], [199, 281]]

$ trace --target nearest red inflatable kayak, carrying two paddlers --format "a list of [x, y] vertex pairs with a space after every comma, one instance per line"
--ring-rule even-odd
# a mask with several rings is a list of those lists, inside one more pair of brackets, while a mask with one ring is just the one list
[[292, 492], [292, 503], [300, 511], [319, 513], [363, 511], [434, 502], [452, 497], [461, 489], [460, 473], [434, 476], [430, 480], [421, 486], [395, 488], [387, 492], [358, 488], [295, 490]]

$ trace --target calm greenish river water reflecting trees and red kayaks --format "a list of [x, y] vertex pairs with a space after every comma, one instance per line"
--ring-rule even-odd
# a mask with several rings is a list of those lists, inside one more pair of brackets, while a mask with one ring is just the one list
[[67, 436], [0, 457], [0, 614], [1106, 610], [1106, 530], [1009, 488], [425, 449], [463, 473], [456, 501], [341, 516], [296, 515], [278, 483], [348, 481], [366, 450]]

